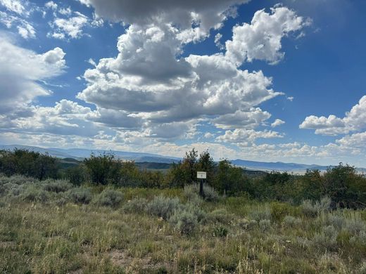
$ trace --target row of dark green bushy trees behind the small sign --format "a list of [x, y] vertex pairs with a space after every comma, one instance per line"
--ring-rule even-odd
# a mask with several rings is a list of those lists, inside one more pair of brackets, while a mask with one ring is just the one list
[[167, 172], [139, 169], [111, 153], [90, 155], [73, 167], [63, 168], [60, 159], [39, 152], [15, 149], [0, 151], [0, 173], [23, 174], [44, 180], [64, 178], [75, 185], [115, 185], [120, 187], [183, 188], [198, 183], [197, 171], [206, 171], [206, 183], [222, 195], [247, 196], [258, 200], [300, 203], [328, 196], [333, 207], [365, 208], [366, 178], [354, 167], [339, 164], [324, 173], [308, 170], [304, 175], [272, 171], [249, 177], [245, 169], [227, 159], [214, 162], [208, 150], [186, 152], [182, 161]]

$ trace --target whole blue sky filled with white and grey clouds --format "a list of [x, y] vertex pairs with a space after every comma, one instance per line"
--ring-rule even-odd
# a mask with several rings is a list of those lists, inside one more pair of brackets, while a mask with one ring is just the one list
[[366, 167], [365, 11], [0, 0], [0, 143]]

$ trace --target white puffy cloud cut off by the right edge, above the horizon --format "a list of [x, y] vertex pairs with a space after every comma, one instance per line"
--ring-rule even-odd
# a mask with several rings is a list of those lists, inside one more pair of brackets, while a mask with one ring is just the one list
[[335, 115], [317, 117], [310, 115], [300, 124], [300, 129], [315, 129], [315, 134], [339, 135], [366, 129], [366, 96], [360, 98], [358, 104], [346, 112], [345, 117]]

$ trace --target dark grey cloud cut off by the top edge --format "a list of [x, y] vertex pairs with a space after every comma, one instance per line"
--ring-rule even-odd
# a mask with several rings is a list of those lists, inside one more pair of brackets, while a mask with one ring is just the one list
[[102, 0], [79, 1], [87, 6], [93, 6], [97, 15], [115, 22], [150, 25], [159, 21], [174, 23], [181, 30], [190, 30], [194, 24], [199, 27], [203, 36], [211, 28], [220, 27], [228, 16], [235, 15], [236, 5], [248, 2], [248, 0], [112, 0], [106, 4]]

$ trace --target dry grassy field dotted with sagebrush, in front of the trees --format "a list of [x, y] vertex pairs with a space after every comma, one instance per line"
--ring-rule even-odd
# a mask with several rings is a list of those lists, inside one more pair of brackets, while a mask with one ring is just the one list
[[[212, 191], [207, 189], [207, 191]], [[366, 212], [0, 177], [1, 273], [366, 273]]]

